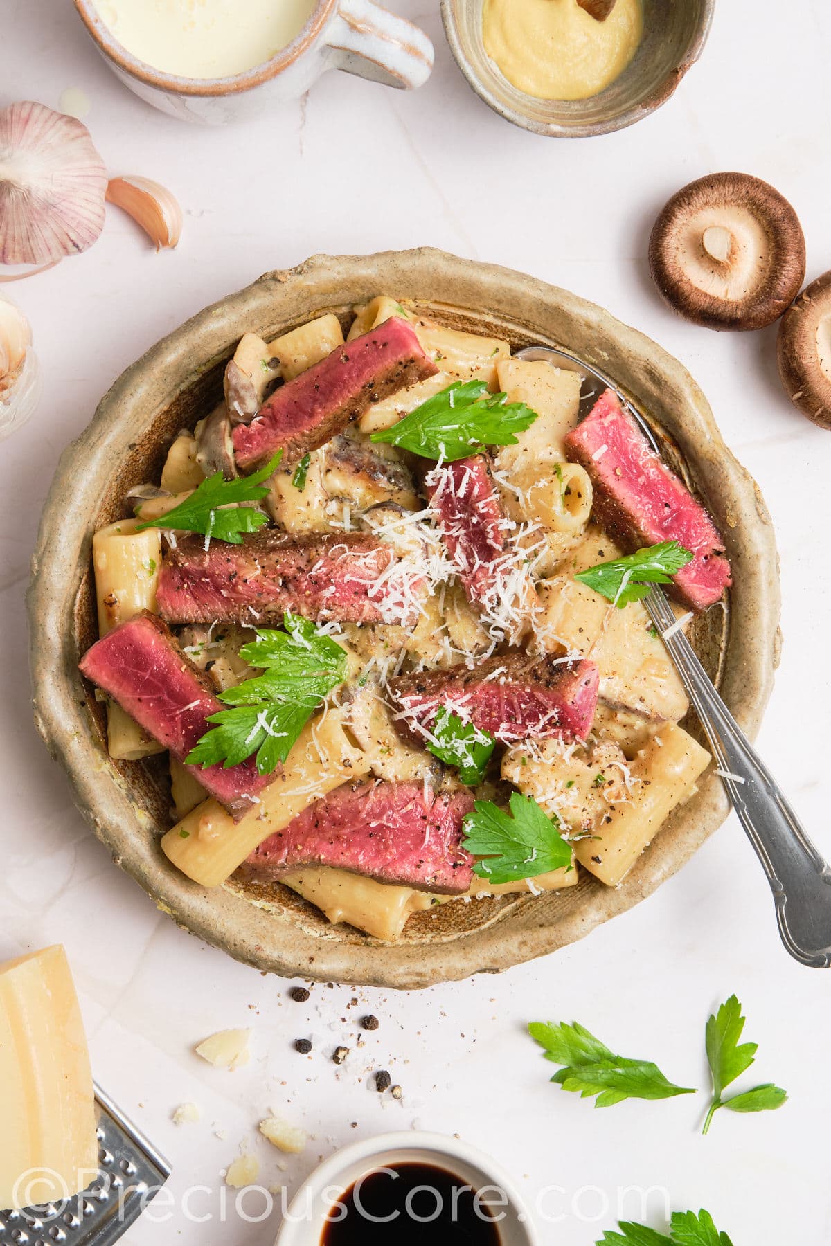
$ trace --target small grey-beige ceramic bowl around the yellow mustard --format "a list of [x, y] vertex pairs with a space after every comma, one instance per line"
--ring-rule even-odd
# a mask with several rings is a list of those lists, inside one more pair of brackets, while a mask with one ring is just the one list
[[506, 121], [551, 138], [623, 130], [669, 100], [701, 55], [715, 0], [644, 0], [644, 36], [632, 64], [588, 100], [538, 100], [518, 91], [485, 51], [482, 0], [441, 0], [451, 51], [476, 93]]

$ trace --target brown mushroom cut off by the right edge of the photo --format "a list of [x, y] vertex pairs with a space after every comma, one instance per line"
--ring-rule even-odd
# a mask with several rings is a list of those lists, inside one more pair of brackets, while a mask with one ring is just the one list
[[782, 316], [776, 356], [794, 406], [831, 429], [831, 272], [811, 282]]

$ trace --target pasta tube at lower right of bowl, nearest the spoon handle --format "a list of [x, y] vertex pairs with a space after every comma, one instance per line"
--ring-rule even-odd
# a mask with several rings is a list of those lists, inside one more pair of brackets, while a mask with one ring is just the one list
[[706, 749], [680, 726], [662, 728], [632, 763], [632, 778], [640, 781], [629, 800], [612, 806], [594, 836], [574, 845], [581, 865], [617, 887], [709, 763]]

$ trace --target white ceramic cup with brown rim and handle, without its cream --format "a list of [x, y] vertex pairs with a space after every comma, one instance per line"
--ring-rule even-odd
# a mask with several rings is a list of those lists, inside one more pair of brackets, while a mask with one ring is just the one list
[[320, 0], [288, 47], [244, 74], [179, 77], [140, 61], [102, 21], [95, 0], [75, 0], [110, 69], [137, 96], [173, 117], [223, 125], [265, 113], [294, 100], [328, 69], [385, 86], [421, 86], [432, 69], [432, 44], [422, 30], [374, 0]]

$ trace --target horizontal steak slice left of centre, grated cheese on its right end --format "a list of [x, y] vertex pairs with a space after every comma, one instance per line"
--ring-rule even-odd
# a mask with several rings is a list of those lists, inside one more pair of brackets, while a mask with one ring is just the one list
[[366, 532], [248, 533], [242, 545], [182, 537], [164, 554], [156, 602], [168, 623], [270, 625], [284, 611], [349, 623], [414, 623], [421, 581]]

